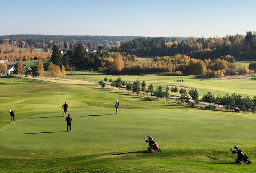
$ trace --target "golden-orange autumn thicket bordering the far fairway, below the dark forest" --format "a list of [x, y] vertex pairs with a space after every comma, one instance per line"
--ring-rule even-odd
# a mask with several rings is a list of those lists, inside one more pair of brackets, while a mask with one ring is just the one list
[[156, 57], [153, 61], [130, 62], [124, 61], [124, 74], [148, 73], [148, 72], [176, 72], [189, 75], [198, 75], [207, 78], [223, 77], [225, 75], [249, 74], [254, 73], [247, 66], [237, 69], [234, 62], [235, 57], [231, 55], [221, 56], [214, 60], [195, 59], [187, 55], [176, 54], [174, 56]]

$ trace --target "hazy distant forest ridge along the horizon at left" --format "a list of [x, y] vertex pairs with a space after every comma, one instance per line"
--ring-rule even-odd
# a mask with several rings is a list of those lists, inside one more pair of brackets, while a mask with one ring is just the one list
[[[87, 46], [91, 44], [92, 47], [104, 46], [110, 48], [113, 45], [120, 45], [121, 42], [126, 42], [138, 38], [139, 36], [78, 36], [78, 35], [4, 35], [0, 36], [0, 44], [17, 42], [17, 46], [27, 48], [27, 44], [33, 48], [52, 48], [52, 44], [57, 44], [61, 49], [75, 48], [79, 43]], [[142, 37], [143, 38], [143, 37]], [[145, 37], [147, 38], [147, 37]], [[172, 37], [167, 37], [171, 39]], [[177, 40], [185, 40], [185, 37], [175, 37]]]

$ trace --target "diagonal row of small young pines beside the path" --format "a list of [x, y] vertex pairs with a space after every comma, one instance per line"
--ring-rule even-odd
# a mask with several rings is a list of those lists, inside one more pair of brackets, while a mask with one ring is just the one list
[[[104, 81], [109, 81], [110, 86], [113, 88], [116, 87], [120, 90], [120, 88], [123, 87], [128, 92], [133, 92], [137, 95], [139, 95], [140, 92], [143, 92], [143, 94], [150, 93], [152, 98], [156, 97], [157, 99], [166, 98], [168, 100], [169, 91], [175, 94], [177, 94], [178, 92], [177, 87], [172, 87], [171, 89], [169, 89], [168, 86], [166, 88], [159, 86], [156, 89], [154, 89], [153, 85], [150, 84], [148, 88], [146, 88], [146, 82], [140, 82], [138, 79], [134, 82], [125, 82], [121, 79], [121, 77], [118, 77], [116, 80], [108, 80], [108, 78], [105, 77]], [[99, 81], [99, 84], [102, 88], [104, 88], [106, 85], [104, 81]], [[230, 112], [243, 111], [244, 113], [250, 113], [256, 110], [256, 96], [254, 96], [253, 99], [251, 99], [249, 96], [242, 97], [241, 94], [233, 93], [232, 95], [226, 94], [224, 96], [218, 94], [217, 97], [215, 97], [214, 94], [208, 91], [206, 94], [202, 96], [201, 99], [199, 99], [199, 93], [196, 88], [191, 88], [188, 91], [185, 88], [181, 88], [179, 93], [180, 95], [177, 98], [178, 101], [180, 101], [181, 104], [184, 104], [190, 102], [190, 99], [192, 99], [192, 107], [194, 105], [197, 106], [197, 104], [199, 104], [200, 102], [207, 102], [207, 109], [216, 109], [215, 105], [218, 105], [218, 107], [220, 107], [221, 110], [223, 107], [223, 109]]]

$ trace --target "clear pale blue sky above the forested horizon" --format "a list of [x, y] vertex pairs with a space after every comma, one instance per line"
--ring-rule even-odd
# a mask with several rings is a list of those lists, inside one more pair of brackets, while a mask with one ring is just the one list
[[255, 0], [1, 0], [0, 35], [245, 35], [256, 31], [255, 6]]

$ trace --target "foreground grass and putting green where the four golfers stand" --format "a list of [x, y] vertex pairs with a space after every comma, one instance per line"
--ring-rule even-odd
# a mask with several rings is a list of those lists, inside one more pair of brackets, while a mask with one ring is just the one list
[[[79, 76], [88, 75], [93, 81], [93, 74]], [[190, 80], [194, 79], [185, 79]], [[147, 95], [95, 84], [13, 77], [0, 78], [0, 91], [0, 172], [240, 173], [256, 169], [255, 115], [189, 109], [173, 100], [151, 101]], [[65, 101], [73, 119], [71, 132], [66, 132], [62, 116]], [[10, 109], [16, 123], [10, 123]], [[148, 135], [162, 152], [146, 152], [143, 137]], [[251, 165], [233, 164], [237, 155], [229, 148], [235, 145], [249, 156]]]

